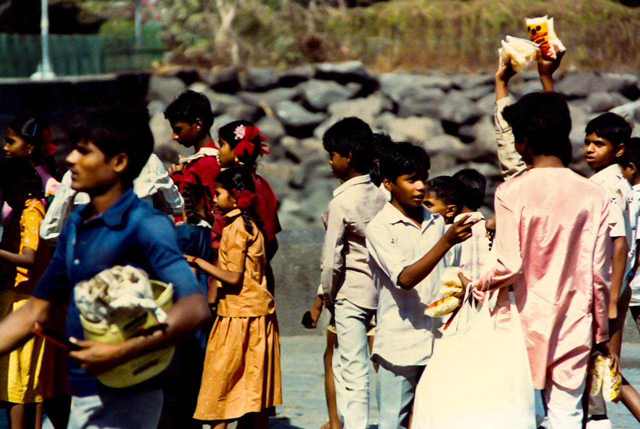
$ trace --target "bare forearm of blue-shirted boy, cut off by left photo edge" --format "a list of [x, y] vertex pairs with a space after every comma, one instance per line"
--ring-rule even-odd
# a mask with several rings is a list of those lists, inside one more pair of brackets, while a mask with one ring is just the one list
[[52, 308], [51, 302], [29, 296], [26, 304], [6, 316], [0, 323], [0, 355], [29, 341], [35, 324], [45, 325], [49, 321]]

